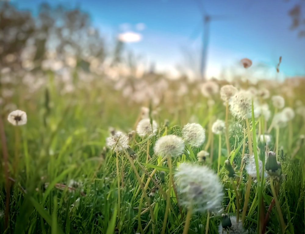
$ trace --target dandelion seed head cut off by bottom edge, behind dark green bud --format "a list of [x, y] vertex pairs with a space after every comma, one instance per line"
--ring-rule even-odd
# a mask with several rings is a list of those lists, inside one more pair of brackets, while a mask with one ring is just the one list
[[222, 215], [222, 222], [218, 226], [218, 233], [219, 234], [246, 234], [246, 231], [243, 226], [242, 222], [236, 222], [236, 216], [233, 215], [231, 218], [228, 214]]

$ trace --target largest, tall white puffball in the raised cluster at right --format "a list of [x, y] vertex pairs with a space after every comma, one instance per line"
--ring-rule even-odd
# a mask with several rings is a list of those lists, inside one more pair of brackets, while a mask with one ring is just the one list
[[232, 96], [229, 105], [233, 116], [246, 119], [252, 112], [252, 95], [249, 91], [240, 90]]

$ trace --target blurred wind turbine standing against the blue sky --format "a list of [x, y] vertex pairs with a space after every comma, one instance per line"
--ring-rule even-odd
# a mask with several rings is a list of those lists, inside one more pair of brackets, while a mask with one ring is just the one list
[[[210, 39], [210, 23], [211, 21], [216, 20], [225, 20], [227, 17], [222, 15], [210, 15], [206, 12], [203, 4], [200, 0], [195, 0], [198, 5], [198, 8], [201, 9], [202, 21], [203, 21], [203, 35], [202, 35], [202, 44], [201, 44], [201, 59], [200, 59], [200, 76], [201, 79], [206, 79], [206, 61], [207, 61], [207, 52]], [[201, 24], [201, 23], [200, 23]], [[194, 30], [192, 34], [196, 33], [198, 30]]]

